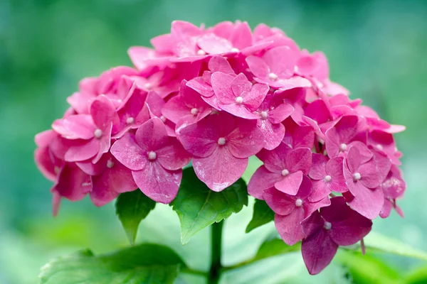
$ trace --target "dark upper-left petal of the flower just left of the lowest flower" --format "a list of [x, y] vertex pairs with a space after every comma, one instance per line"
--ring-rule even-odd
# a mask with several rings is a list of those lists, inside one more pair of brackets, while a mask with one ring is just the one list
[[[288, 215], [291, 214], [294, 209], [298, 209], [295, 206], [295, 197], [292, 198], [290, 195], [280, 192], [274, 187], [264, 190], [263, 199], [267, 202], [268, 207], [270, 207], [276, 214]], [[302, 217], [302, 219], [304, 219], [304, 217]]]

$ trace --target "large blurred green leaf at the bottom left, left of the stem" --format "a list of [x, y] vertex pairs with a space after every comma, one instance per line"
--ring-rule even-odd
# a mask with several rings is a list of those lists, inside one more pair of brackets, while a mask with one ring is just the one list
[[43, 266], [40, 283], [172, 284], [185, 267], [172, 249], [157, 244], [142, 244], [101, 256], [86, 250]]

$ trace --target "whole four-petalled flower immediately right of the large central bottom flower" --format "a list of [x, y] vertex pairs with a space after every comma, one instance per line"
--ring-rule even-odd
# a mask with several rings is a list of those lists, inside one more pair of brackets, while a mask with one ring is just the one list
[[264, 165], [255, 171], [248, 183], [248, 193], [255, 198], [263, 199], [263, 191], [275, 187], [288, 195], [296, 195], [302, 178], [312, 166], [310, 148], [292, 149], [280, 143], [272, 151], [263, 149], [257, 155]]

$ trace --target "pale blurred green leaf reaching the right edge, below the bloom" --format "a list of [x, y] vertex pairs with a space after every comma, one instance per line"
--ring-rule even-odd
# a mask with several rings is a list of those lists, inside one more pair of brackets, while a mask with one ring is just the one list
[[[413, 249], [413, 247], [408, 246], [399, 240], [391, 239], [388, 236], [384, 236], [373, 231], [364, 237], [364, 244], [368, 254], [370, 252], [391, 253], [398, 256], [407, 256], [427, 261], [426, 252]], [[359, 246], [357, 246], [357, 248], [358, 247]]]

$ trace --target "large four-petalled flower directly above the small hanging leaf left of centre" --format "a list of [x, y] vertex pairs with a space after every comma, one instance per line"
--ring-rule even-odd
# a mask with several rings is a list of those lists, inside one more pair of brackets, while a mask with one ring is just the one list
[[139, 190], [152, 200], [165, 204], [176, 197], [181, 168], [190, 161], [176, 138], [167, 136], [165, 126], [158, 118], [142, 124], [135, 136], [129, 133], [117, 140], [111, 153], [132, 170]]

